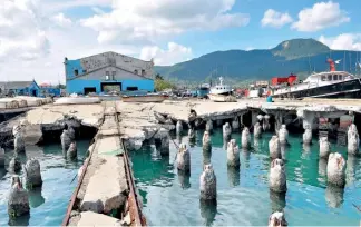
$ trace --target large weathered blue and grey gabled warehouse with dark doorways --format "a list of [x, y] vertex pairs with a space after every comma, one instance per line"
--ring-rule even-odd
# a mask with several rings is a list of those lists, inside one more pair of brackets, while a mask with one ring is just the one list
[[153, 60], [104, 52], [64, 63], [67, 93], [154, 91]]

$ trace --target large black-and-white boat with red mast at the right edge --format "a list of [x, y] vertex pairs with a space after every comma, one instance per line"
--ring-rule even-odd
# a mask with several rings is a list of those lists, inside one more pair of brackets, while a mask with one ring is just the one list
[[335, 62], [328, 59], [330, 71], [309, 76], [304, 81], [279, 86], [273, 89], [274, 98], [361, 98], [360, 78], [336, 71]]

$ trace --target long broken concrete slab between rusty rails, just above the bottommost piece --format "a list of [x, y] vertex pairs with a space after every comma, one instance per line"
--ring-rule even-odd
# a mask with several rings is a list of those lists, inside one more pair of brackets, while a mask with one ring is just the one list
[[103, 162], [89, 179], [80, 210], [109, 214], [125, 205], [128, 195], [123, 157], [98, 157]]

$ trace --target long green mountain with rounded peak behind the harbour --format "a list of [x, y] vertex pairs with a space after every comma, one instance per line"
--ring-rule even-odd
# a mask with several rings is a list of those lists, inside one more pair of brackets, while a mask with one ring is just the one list
[[[203, 82], [224, 76], [234, 82], [284, 77], [291, 72], [306, 76], [311, 71], [329, 70], [326, 59], [341, 60], [339, 70], [355, 70], [358, 52], [331, 50], [314, 39], [292, 39], [273, 49], [227, 50], [211, 52], [174, 66], [156, 66], [155, 72], [173, 81]], [[345, 58], [344, 58], [345, 56]], [[351, 59], [351, 61], [350, 61]], [[351, 65], [350, 65], [351, 62]], [[228, 82], [230, 83], [230, 82]]]

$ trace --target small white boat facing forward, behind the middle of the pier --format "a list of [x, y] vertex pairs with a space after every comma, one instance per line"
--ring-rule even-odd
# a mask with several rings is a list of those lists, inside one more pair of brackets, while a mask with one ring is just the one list
[[231, 86], [223, 85], [223, 77], [219, 77], [219, 85], [216, 85], [211, 88], [208, 98], [215, 102], [236, 101], [236, 98], [233, 96], [233, 90]]

